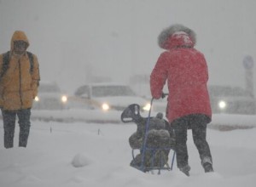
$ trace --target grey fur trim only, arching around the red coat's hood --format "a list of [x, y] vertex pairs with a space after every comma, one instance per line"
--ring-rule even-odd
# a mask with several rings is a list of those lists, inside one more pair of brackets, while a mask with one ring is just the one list
[[177, 31], [183, 31], [187, 33], [195, 45], [196, 43], [195, 31], [189, 29], [186, 26], [175, 24], [167, 27], [166, 29], [160, 32], [160, 35], [158, 37], [158, 45], [160, 46], [160, 48], [165, 48], [166, 42], [169, 40], [170, 37], [172, 37], [172, 34], [174, 34]]

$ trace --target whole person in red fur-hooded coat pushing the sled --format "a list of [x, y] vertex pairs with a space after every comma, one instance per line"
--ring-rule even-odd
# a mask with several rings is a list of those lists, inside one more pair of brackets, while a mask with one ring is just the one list
[[164, 85], [169, 96], [166, 117], [176, 134], [177, 167], [189, 176], [187, 129], [191, 128], [205, 172], [212, 172], [207, 144], [207, 123], [212, 110], [207, 90], [208, 70], [204, 55], [194, 48], [195, 32], [182, 25], [166, 28], [159, 36], [160, 54], [150, 76], [151, 94], [160, 99]]

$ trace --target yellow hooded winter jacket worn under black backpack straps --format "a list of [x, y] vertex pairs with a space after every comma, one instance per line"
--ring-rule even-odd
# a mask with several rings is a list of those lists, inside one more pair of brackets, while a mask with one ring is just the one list
[[[30, 72], [30, 61], [27, 54], [20, 57], [13, 53], [14, 42], [22, 40], [27, 42], [23, 31], [15, 31], [11, 39], [9, 68], [0, 79], [0, 106], [6, 111], [28, 109], [38, 94], [39, 65], [38, 57], [33, 55], [33, 71]], [[3, 54], [0, 54], [0, 72], [3, 68]]]

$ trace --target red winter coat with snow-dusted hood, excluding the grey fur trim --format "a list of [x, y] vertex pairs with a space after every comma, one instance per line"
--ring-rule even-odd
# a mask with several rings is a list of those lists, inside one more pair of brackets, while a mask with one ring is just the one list
[[175, 32], [166, 38], [161, 47], [167, 51], [160, 54], [150, 76], [151, 94], [155, 99], [160, 99], [167, 80], [166, 117], [169, 122], [190, 114], [212, 118], [207, 91], [207, 62], [194, 45], [193, 38], [184, 32]]

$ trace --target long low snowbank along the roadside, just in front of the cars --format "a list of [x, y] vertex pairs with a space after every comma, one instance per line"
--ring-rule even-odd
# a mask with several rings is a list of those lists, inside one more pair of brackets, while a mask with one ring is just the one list
[[[82, 109], [70, 109], [63, 111], [36, 111], [32, 110], [32, 121], [45, 122], [96, 122], [96, 123], [118, 123], [124, 124], [120, 120], [121, 111], [93, 111]], [[142, 113], [148, 116], [148, 113]], [[152, 112], [151, 116], [155, 116]], [[212, 122], [208, 125], [212, 129], [232, 130], [256, 127], [256, 116], [251, 115], [228, 115], [213, 114]]]

